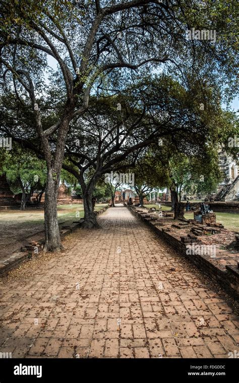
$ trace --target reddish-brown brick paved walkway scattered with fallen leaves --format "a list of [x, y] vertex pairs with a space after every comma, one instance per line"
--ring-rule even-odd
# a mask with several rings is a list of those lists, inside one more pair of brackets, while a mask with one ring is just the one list
[[[0, 352], [13, 357], [228, 357], [238, 317], [125, 207], [2, 286]], [[22, 269], [24, 270], [24, 266]], [[175, 270], [173, 270], [173, 268]]]

